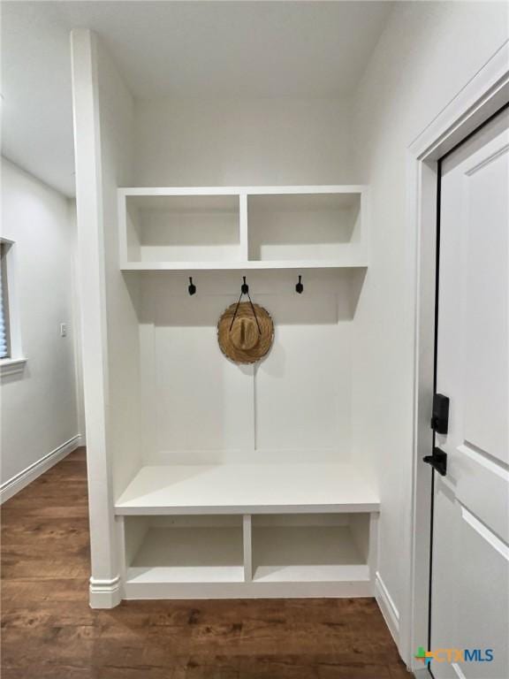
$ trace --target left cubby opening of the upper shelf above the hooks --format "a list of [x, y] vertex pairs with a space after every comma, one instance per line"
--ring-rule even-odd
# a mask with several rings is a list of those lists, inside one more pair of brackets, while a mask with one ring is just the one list
[[126, 195], [128, 262], [227, 262], [240, 256], [238, 195]]

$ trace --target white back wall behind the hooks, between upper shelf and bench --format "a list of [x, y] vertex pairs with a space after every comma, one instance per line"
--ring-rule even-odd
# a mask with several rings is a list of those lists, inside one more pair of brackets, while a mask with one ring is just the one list
[[[348, 272], [249, 271], [274, 345], [256, 366], [227, 361], [217, 321], [240, 272], [144, 276], [145, 463], [338, 462], [350, 454], [352, 281]], [[319, 350], [317, 350], [319, 347]]]

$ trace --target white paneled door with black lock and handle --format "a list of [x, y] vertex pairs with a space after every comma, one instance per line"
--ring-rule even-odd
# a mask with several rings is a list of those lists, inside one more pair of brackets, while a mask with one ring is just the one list
[[[509, 679], [509, 132], [504, 111], [441, 169], [430, 674]], [[491, 659], [491, 660], [490, 660]]]

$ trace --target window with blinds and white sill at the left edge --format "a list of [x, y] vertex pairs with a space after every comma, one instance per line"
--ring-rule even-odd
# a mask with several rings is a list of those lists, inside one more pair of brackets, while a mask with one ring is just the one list
[[19, 333], [15, 248], [11, 240], [0, 240], [0, 376], [21, 372], [27, 362]]

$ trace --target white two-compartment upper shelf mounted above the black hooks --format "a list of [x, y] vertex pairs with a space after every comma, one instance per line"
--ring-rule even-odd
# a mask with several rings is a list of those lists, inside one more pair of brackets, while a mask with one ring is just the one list
[[118, 189], [123, 271], [368, 265], [367, 189]]

